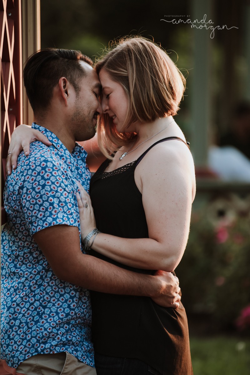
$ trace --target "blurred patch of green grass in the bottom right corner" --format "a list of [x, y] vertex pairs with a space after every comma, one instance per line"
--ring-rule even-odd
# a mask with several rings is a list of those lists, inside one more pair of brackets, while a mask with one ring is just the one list
[[237, 338], [191, 338], [194, 375], [249, 375], [250, 341]]

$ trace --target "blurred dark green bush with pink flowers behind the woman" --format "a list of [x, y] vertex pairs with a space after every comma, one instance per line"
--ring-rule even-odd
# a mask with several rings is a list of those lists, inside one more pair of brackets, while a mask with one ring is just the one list
[[187, 312], [234, 326], [250, 303], [250, 204], [218, 197], [192, 214], [189, 240], [176, 269]]

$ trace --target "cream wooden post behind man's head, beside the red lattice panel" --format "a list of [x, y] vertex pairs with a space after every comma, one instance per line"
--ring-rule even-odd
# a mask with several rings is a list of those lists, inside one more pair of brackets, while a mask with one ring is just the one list
[[[27, 58], [41, 48], [40, 0], [22, 0], [22, 66]], [[23, 122], [31, 125], [34, 114], [23, 84]]]

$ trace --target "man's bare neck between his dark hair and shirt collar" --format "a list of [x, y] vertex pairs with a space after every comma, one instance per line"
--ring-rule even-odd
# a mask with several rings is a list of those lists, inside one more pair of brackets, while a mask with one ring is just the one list
[[67, 148], [67, 150], [72, 153], [72, 150], [75, 147], [76, 139], [60, 118], [53, 115], [46, 116], [46, 118], [37, 116], [35, 118], [35, 122], [37, 125], [43, 126], [54, 133]]

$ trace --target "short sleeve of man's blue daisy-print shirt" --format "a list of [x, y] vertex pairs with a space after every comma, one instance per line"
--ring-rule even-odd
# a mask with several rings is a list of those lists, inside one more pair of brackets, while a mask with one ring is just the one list
[[52, 225], [78, 227], [78, 187], [64, 163], [43, 146], [25, 158], [20, 157], [17, 168], [19, 199], [31, 236]]

